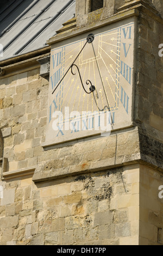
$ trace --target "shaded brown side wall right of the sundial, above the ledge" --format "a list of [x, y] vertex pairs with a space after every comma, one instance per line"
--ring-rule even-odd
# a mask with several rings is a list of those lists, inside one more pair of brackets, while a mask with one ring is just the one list
[[163, 19], [150, 8], [141, 8], [137, 21], [134, 121], [139, 127], [141, 159], [162, 168], [163, 72], [158, 47], [163, 41]]

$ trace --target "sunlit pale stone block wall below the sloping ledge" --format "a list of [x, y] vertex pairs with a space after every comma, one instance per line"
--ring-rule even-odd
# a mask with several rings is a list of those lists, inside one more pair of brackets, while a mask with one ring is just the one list
[[4, 194], [1, 245], [139, 243], [139, 166], [36, 184], [18, 178]]

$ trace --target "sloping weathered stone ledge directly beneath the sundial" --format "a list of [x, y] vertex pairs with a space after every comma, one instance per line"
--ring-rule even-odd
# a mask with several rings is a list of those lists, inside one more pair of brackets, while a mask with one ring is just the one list
[[68, 148], [47, 150], [46, 154], [49, 154], [51, 160], [41, 160], [35, 169], [33, 181], [55, 180], [135, 163], [146, 164], [162, 172], [162, 143], [149, 138], [146, 131], [143, 132], [145, 134], [135, 128], [133, 131], [81, 142]]

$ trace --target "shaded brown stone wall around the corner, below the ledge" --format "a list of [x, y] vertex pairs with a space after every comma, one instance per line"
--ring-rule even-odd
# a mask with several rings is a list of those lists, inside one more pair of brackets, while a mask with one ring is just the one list
[[159, 187], [162, 173], [153, 168], [140, 166], [140, 245], [162, 245], [162, 206]]

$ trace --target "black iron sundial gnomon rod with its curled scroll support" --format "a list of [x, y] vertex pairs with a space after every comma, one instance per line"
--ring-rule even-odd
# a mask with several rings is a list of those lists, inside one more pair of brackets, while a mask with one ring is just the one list
[[[89, 35], [87, 36], [85, 45], [83, 46], [82, 50], [78, 53], [76, 59], [75, 59], [74, 62], [71, 64], [70, 68], [66, 71], [65, 75], [61, 78], [60, 82], [57, 84], [57, 86], [56, 86], [55, 89], [53, 90], [53, 93], [55, 92], [55, 90], [57, 90], [57, 88], [59, 87], [60, 83], [64, 80], [65, 76], [67, 75], [68, 71], [70, 71], [70, 69], [71, 69], [72, 75], [76, 75], [76, 73], [73, 72], [73, 66], [76, 66], [76, 68], [77, 68], [77, 70], [78, 70], [78, 72], [79, 72], [80, 81], [81, 81], [81, 83], [82, 83], [83, 89], [85, 90], [84, 84], [83, 84], [83, 81], [82, 81], [82, 77], [81, 77], [81, 75], [80, 75], [79, 68], [78, 68], [78, 66], [77, 66], [76, 64], [74, 64], [74, 63], [76, 62], [76, 60], [77, 60], [77, 58], [79, 57], [80, 53], [82, 53], [82, 51], [83, 51], [84, 47], [86, 46], [86, 44], [87, 44], [87, 43], [91, 44], [91, 42], [93, 42], [94, 39], [95, 39], [95, 35], [93, 35], [93, 34], [89, 34]], [[96, 90], [95, 86], [92, 85], [92, 83], [91, 83], [90, 80], [86, 80], [86, 84], [87, 84], [87, 86], [88, 86], [89, 84], [91, 85], [91, 87], [89, 88], [89, 89], [90, 89], [90, 92], [87, 92], [87, 91], [85, 90], [85, 92], [86, 92], [87, 94], [90, 94], [90, 93], [92, 93], [92, 92], [94, 92], [94, 91]], [[53, 94], [53, 93], [52, 93], [52, 94]]]

